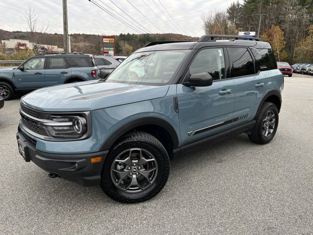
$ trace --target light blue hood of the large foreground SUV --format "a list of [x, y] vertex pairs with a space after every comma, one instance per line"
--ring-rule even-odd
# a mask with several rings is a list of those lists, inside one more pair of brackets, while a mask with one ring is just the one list
[[21, 102], [47, 112], [91, 111], [160, 98], [168, 89], [169, 85], [128, 85], [96, 80], [39, 89], [24, 95]]

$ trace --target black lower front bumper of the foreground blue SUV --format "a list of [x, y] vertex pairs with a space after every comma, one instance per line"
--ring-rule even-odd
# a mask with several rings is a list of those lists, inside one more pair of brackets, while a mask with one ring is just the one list
[[[26, 146], [24, 150], [29, 160], [45, 171], [83, 186], [100, 184], [102, 166], [108, 150], [84, 154], [51, 154], [36, 149], [34, 141], [21, 130], [16, 137]], [[101, 162], [91, 164], [90, 158], [100, 156]]]

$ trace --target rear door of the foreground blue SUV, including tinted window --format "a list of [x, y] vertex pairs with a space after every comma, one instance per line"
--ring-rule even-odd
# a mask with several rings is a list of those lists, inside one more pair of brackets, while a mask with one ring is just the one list
[[266, 73], [261, 73], [248, 47], [228, 47], [231, 77], [235, 84], [234, 126], [254, 118], [268, 91]]

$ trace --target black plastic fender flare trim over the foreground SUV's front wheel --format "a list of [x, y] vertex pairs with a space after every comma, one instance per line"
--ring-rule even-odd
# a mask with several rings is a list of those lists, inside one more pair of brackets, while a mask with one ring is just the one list
[[120, 126], [104, 141], [99, 151], [110, 149], [112, 145], [114, 144], [114, 142], [118, 140], [118, 138], [120, 138], [125, 133], [129, 132], [130, 130], [136, 127], [142, 126], [142, 125], [150, 125], [150, 124], [157, 125], [167, 130], [167, 132], [170, 134], [172, 138], [173, 148], [175, 149], [178, 147], [178, 144], [179, 144], [178, 135], [174, 127], [170, 123], [168, 123], [166, 120], [162, 118], [144, 117], [144, 118], [136, 118]]

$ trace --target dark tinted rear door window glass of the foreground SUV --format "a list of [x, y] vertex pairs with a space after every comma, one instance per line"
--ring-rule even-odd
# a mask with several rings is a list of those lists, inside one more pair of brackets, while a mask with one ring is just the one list
[[233, 62], [234, 76], [254, 74], [254, 64], [247, 48], [229, 48]]

